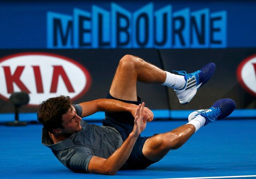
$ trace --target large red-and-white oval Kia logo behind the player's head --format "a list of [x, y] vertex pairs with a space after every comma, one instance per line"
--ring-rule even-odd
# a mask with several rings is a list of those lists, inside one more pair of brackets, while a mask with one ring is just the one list
[[0, 97], [29, 93], [29, 105], [59, 95], [78, 99], [91, 84], [88, 70], [78, 62], [50, 53], [19, 53], [0, 59]]

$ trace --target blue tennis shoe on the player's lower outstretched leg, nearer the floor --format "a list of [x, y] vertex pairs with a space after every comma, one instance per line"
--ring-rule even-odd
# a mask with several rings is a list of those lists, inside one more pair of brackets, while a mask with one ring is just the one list
[[191, 121], [197, 115], [205, 117], [205, 125], [216, 122], [217, 120], [223, 119], [229, 116], [236, 108], [236, 103], [232, 99], [220, 99], [216, 101], [209, 109], [200, 109], [192, 112], [188, 116], [188, 121]]

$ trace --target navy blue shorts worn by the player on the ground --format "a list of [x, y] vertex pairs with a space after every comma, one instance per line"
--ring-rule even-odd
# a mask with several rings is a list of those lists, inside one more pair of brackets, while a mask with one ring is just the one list
[[[116, 99], [109, 93], [107, 98]], [[122, 99], [116, 100], [139, 105], [141, 103], [141, 99], [139, 96], [137, 96], [137, 98], [138, 101], [125, 101]], [[123, 141], [125, 141], [133, 130], [134, 117], [130, 112], [105, 112], [105, 120], [102, 121], [102, 124], [104, 126], [116, 128], [121, 134]], [[131, 151], [131, 155], [121, 169], [146, 169], [146, 167], [155, 163], [155, 161], [149, 160], [142, 153], [143, 145], [148, 138], [150, 137], [138, 137], [133, 150]]]

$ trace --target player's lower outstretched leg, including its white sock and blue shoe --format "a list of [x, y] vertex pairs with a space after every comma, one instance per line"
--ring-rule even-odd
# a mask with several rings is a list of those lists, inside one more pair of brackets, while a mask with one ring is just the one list
[[184, 126], [147, 139], [142, 152], [149, 160], [158, 161], [169, 150], [181, 147], [200, 127], [227, 117], [235, 107], [232, 99], [220, 99], [209, 109], [194, 111], [188, 116], [189, 122]]

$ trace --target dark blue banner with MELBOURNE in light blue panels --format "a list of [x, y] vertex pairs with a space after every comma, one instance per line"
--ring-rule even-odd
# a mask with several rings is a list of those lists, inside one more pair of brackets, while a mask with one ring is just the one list
[[2, 2], [0, 48], [255, 47], [255, 7], [253, 1]]

